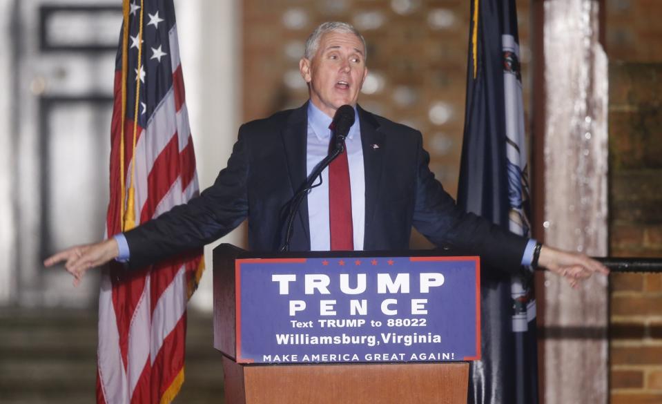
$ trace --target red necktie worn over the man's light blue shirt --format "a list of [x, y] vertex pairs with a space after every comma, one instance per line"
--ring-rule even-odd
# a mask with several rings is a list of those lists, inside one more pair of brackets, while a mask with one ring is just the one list
[[[331, 148], [335, 137], [331, 135]], [[344, 144], [343, 144], [344, 146]], [[347, 148], [329, 164], [329, 227], [331, 251], [354, 249], [354, 231], [351, 222], [351, 186]]]

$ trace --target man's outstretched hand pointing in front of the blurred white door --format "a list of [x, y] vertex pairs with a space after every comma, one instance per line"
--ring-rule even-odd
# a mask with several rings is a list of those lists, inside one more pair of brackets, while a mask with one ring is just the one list
[[46, 267], [51, 267], [59, 262], [65, 262], [64, 267], [74, 277], [74, 286], [78, 286], [88, 269], [99, 267], [117, 258], [118, 255], [117, 241], [110, 238], [95, 244], [77, 245], [60, 251], [47, 258], [43, 264]]

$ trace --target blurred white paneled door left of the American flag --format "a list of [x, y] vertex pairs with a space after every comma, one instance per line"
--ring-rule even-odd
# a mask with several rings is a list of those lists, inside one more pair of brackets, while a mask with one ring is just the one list
[[11, 177], [16, 236], [14, 260], [0, 268], [12, 287], [0, 299], [90, 307], [94, 275], [74, 288], [61, 267], [41, 262], [104, 235], [121, 2], [20, 0], [9, 11], [14, 164], [0, 175]]

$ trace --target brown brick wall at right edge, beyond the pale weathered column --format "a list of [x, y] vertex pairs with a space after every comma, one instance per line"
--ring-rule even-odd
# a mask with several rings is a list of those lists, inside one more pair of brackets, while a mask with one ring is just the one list
[[[662, 64], [610, 65], [610, 255], [662, 257]], [[611, 282], [612, 404], [662, 403], [662, 274]]]

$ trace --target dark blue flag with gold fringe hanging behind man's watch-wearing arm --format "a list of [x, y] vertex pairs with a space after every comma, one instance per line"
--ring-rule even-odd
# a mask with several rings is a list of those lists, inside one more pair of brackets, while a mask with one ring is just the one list
[[[515, 0], [471, 4], [467, 106], [458, 204], [528, 236], [527, 149]], [[538, 403], [532, 273], [481, 271], [483, 359], [471, 367], [469, 403]]]

